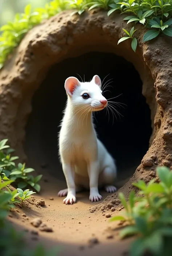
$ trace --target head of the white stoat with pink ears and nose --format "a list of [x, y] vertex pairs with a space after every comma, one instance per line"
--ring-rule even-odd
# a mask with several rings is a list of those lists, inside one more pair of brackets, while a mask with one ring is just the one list
[[101, 86], [101, 79], [97, 75], [90, 82], [79, 82], [76, 77], [68, 77], [65, 81], [65, 90], [73, 106], [90, 111], [99, 111], [107, 106]]

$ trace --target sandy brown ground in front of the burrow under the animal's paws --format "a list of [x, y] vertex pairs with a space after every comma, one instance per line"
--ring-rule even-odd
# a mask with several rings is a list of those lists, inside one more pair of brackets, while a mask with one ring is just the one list
[[[35, 194], [22, 208], [12, 210], [8, 217], [17, 229], [26, 232], [28, 245], [34, 247], [41, 242], [47, 248], [58, 246], [59, 256], [127, 255], [131, 239], [120, 241], [119, 223], [109, 222], [110, 218], [107, 218], [115, 212], [91, 213], [90, 208], [98, 203], [89, 201], [89, 191], [78, 193], [77, 203], [66, 206], [62, 203], [63, 198], [57, 196], [57, 192], [66, 187], [65, 180], [47, 173], [42, 178], [40, 194]], [[119, 186], [127, 180], [120, 180]], [[109, 195], [104, 191], [101, 194], [103, 200]], [[31, 224], [33, 220], [36, 224]], [[39, 221], [39, 227], [34, 227]]]

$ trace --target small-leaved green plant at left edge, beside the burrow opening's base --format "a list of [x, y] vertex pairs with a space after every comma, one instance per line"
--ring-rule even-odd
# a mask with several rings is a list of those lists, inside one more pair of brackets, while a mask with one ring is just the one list
[[10, 179], [15, 181], [17, 187], [25, 188], [27, 186], [33, 187], [37, 192], [41, 187], [38, 182], [42, 178], [42, 175], [34, 177], [30, 175], [33, 172], [33, 168], [25, 168], [25, 163], [19, 163], [17, 166], [15, 160], [19, 157], [11, 157], [11, 153], [14, 151], [8, 145], [6, 145], [8, 139], [0, 141], [0, 168], [3, 168], [3, 179]]

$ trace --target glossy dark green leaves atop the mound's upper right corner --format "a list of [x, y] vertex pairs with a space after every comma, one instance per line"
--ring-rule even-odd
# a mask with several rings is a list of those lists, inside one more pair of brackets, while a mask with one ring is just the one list
[[[169, 19], [172, 11], [171, 0], [127, 0], [116, 5], [120, 5], [121, 13], [132, 14], [124, 18], [127, 24], [141, 23], [150, 29], [144, 34], [143, 42], [150, 41], [161, 33], [172, 37], [172, 21]], [[112, 12], [113, 8], [108, 12], [108, 16]]]

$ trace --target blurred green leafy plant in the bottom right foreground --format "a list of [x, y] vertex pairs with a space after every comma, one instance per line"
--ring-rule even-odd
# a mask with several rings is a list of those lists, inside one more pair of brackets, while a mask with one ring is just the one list
[[123, 216], [114, 216], [111, 221], [122, 220], [129, 225], [120, 232], [120, 237], [138, 235], [130, 248], [130, 256], [168, 256], [172, 239], [172, 172], [167, 167], [158, 167], [160, 183], [152, 179], [134, 183], [139, 188], [139, 197], [131, 191], [129, 202], [119, 193], [125, 208]]

